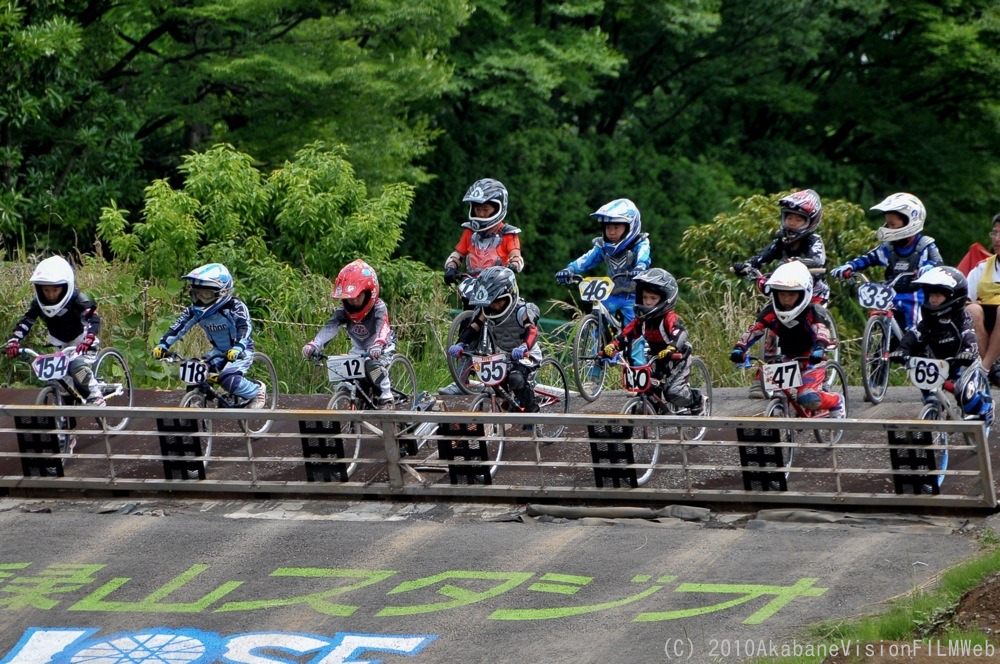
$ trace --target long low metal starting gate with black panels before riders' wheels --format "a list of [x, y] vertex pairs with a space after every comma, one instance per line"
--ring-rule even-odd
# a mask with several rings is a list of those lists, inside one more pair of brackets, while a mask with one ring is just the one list
[[[72, 415], [81, 424], [73, 431], [79, 441], [75, 454], [59, 453], [55, 447], [65, 431], [54, 428], [52, 420], [41, 419], [53, 415], [51, 407], [0, 406], [0, 424], [4, 425], [0, 427], [0, 487], [647, 503], [996, 506], [989, 448], [978, 422], [838, 420], [843, 439], [827, 444], [813, 439], [804, 420], [758, 417], [701, 418], [697, 422], [707, 427], [705, 438], [682, 440], [679, 428], [690, 427], [691, 418], [255, 411], [255, 418], [271, 418], [273, 425], [268, 433], [254, 437], [238, 426], [248, 415], [241, 410], [75, 407], [58, 413]], [[124, 431], [107, 431], [93, 419], [101, 415], [127, 415], [132, 420]], [[188, 430], [184, 426], [180, 431], [166, 430], [170, 423], [191, 425], [199, 421], [211, 422], [210, 434], [192, 431], [190, 426]], [[25, 422], [35, 428], [24, 428]], [[348, 423], [357, 425], [353, 433], [346, 432]], [[442, 428], [441, 424], [447, 426]], [[562, 425], [566, 431], [546, 438], [532, 425]], [[782, 430], [798, 433], [791, 442], [754, 438], [761, 432]], [[601, 431], [604, 435], [598, 437]], [[948, 444], [941, 444], [940, 434], [947, 436]], [[740, 435], [743, 440], [738, 439]], [[212, 450], [205, 455], [202, 445], [209, 436]], [[501, 440], [504, 456], [497, 461]], [[937, 444], [926, 444], [929, 440]], [[171, 448], [167, 443], [176, 445]], [[360, 445], [357, 458], [351, 455], [355, 444]], [[653, 463], [656, 446], [659, 457]], [[481, 449], [485, 458], [470, 454], [472, 448]], [[344, 455], [343, 449], [348, 454]], [[748, 455], [748, 450], [754, 454]], [[794, 450], [793, 462], [786, 467], [782, 459], [787, 459], [789, 450]], [[941, 469], [945, 451], [948, 466]], [[755, 456], [757, 452], [761, 454]], [[916, 453], [916, 461], [907, 461], [907, 455], [900, 454], [909, 452]], [[345, 471], [350, 464], [356, 464], [356, 470], [348, 477]], [[495, 475], [491, 476], [493, 468]], [[649, 481], [638, 486], [636, 478], [647, 473]], [[938, 488], [939, 479], [943, 481]], [[940, 493], [907, 493], [932, 489]]]

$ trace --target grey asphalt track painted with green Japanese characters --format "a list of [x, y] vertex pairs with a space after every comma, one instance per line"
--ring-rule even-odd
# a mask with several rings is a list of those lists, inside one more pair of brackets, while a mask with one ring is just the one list
[[[30, 403], [33, 393], [0, 397]], [[741, 397], [720, 392], [717, 413], [762, 406]], [[853, 415], [918, 409], [902, 388]], [[806, 626], [877, 611], [974, 555], [982, 521], [738, 506], [566, 520], [514, 504], [11, 496], [0, 499], [0, 664], [797, 654]]]

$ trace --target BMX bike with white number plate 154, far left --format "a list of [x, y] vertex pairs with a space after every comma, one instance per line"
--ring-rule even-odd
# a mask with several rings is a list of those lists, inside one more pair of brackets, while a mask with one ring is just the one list
[[[82, 406], [86, 398], [77, 389], [76, 381], [69, 373], [70, 362], [78, 356], [76, 348], [67, 347], [54, 353], [43, 354], [31, 348], [21, 348], [19, 355], [31, 358], [31, 369], [38, 380], [45, 383], [35, 404], [39, 406]], [[125, 357], [114, 348], [102, 348], [96, 354], [88, 353], [84, 361], [90, 364], [94, 372], [97, 386], [101, 390], [105, 403], [109, 406], [131, 407], [134, 394], [132, 391], [132, 372], [129, 370]], [[68, 415], [57, 415], [56, 428], [69, 431], [76, 428], [76, 418]], [[97, 424], [108, 431], [121, 431], [129, 422], [128, 417], [98, 417]], [[73, 453], [76, 447], [76, 436], [59, 434], [59, 449], [63, 453]]]

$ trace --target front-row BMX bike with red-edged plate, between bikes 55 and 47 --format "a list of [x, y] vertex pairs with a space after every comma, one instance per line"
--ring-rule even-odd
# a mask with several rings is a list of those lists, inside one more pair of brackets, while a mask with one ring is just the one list
[[[683, 357], [681, 353], [674, 353], [670, 359], [679, 360]], [[680, 408], [667, 401], [662, 394], [662, 381], [653, 376], [652, 363], [633, 367], [625, 361], [622, 353], [618, 353], [612, 361], [621, 365], [622, 387], [625, 391], [633, 395], [622, 407], [622, 415], [680, 415], [689, 417], [709, 417], [712, 414], [712, 380], [708, 374], [708, 367], [699, 357], [691, 358], [691, 373], [688, 377], [690, 387], [697, 389], [702, 394], [704, 407], [701, 413], [695, 416], [690, 408]], [[705, 436], [706, 428], [703, 426], [680, 427], [676, 433], [671, 435], [671, 427], [660, 425], [644, 425], [632, 430], [633, 437], [653, 441], [649, 444], [632, 446], [632, 454], [635, 463], [649, 464], [650, 467], [637, 475], [636, 484], [643, 486], [653, 476], [652, 466], [659, 462], [661, 440], [701, 440]]]

